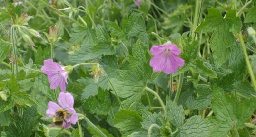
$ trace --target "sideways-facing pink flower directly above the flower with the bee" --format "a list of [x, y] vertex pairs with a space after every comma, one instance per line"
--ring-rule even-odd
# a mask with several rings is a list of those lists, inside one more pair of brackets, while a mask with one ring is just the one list
[[44, 74], [47, 74], [51, 89], [56, 89], [58, 86], [60, 91], [66, 91], [68, 71], [60, 64], [53, 62], [52, 59], [44, 60], [44, 66], [41, 68]]

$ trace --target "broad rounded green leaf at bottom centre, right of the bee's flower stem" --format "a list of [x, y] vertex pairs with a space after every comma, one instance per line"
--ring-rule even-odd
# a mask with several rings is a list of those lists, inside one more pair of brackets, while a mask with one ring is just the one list
[[120, 131], [136, 130], [141, 127], [141, 116], [134, 110], [120, 110], [113, 119], [115, 127]]

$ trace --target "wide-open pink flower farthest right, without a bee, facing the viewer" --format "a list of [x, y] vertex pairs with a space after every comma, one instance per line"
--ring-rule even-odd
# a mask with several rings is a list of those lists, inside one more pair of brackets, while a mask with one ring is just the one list
[[176, 73], [179, 67], [184, 66], [184, 60], [178, 56], [181, 51], [176, 45], [153, 46], [150, 53], [154, 55], [150, 60], [150, 66], [155, 72]]

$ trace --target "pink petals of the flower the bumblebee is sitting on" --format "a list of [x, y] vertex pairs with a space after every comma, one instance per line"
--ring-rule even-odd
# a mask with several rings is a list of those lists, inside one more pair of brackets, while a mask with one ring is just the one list
[[71, 124], [76, 124], [78, 121], [78, 115], [76, 110], [74, 110], [74, 98], [70, 93], [63, 93], [59, 94], [58, 104], [55, 102], [49, 101], [48, 109], [46, 110], [46, 115], [49, 117], [55, 117], [59, 111], [65, 110], [66, 116], [63, 120], [62, 127], [67, 129], [70, 128]]

